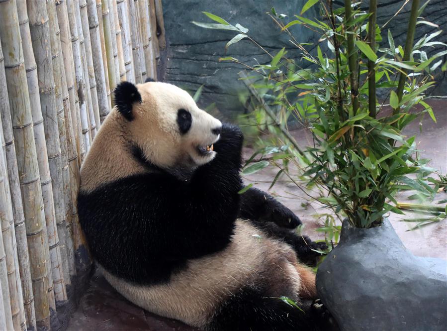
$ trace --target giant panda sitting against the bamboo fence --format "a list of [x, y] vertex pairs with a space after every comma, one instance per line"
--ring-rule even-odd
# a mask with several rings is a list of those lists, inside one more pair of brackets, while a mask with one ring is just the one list
[[267, 193], [238, 193], [241, 130], [167, 83], [122, 82], [114, 98], [78, 195], [106, 280], [201, 330], [327, 330], [324, 307], [305, 304], [316, 289], [304, 263], [324, 247], [295, 235], [299, 218]]

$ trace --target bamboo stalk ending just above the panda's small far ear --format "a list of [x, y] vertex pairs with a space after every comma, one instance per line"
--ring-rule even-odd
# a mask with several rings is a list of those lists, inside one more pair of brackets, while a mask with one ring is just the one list
[[157, 79], [157, 71], [155, 70], [155, 53], [152, 44], [151, 26], [149, 24], [149, 7], [148, 0], [138, 0], [139, 12], [139, 30], [141, 42], [143, 44], [144, 61], [148, 77]]

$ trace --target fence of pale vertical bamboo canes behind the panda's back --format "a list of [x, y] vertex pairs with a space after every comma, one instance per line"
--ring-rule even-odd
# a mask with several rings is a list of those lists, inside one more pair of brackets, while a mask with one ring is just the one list
[[0, 330], [51, 330], [82, 289], [81, 163], [165, 47], [161, 0], [0, 0]]

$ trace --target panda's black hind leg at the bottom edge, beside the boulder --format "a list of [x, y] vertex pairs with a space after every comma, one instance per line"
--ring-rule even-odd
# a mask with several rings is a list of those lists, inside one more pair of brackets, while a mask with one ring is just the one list
[[[244, 288], [226, 301], [214, 315], [207, 331], [330, 331], [330, 315], [309, 302], [300, 309], [280, 298], [264, 295], [262, 287]], [[324, 319], [323, 319], [324, 318]]]

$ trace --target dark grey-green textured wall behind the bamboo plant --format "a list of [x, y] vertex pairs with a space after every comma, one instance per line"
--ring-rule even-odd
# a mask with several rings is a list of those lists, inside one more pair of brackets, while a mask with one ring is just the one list
[[[238, 94], [247, 93], [244, 83], [238, 81], [237, 73], [243, 68], [234, 63], [218, 62], [220, 57], [233, 56], [241, 61], [255, 64], [270, 60], [251, 42], [242, 40], [230, 46], [225, 53], [225, 44], [237, 33], [200, 28], [191, 21], [211, 22], [201, 11], [221, 16], [232, 24], [240, 23], [248, 28], [249, 35], [269, 51], [276, 52], [282, 47], [288, 56], [298, 57], [299, 53], [288, 42], [287, 35], [280, 33], [277, 25], [266, 14], [271, 7], [277, 13], [293, 17], [299, 13], [306, 0], [163, 0], [168, 49], [163, 56], [162, 78], [190, 91], [204, 84], [200, 106], [216, 103], [218, 110], [226, 117], [240, 113], [243, 106]], [[340, 4], [343, 1], [335, 1]], [[368, 1], [363, 1], [367, 6]], [[403, 0], [379, 0], [378, 22], [384, 23], [402, 6]], [[425, 2], [425, 1], [422, 1]], [[388, 25], [396, 44], [403, 43], [406, 35], [411, 1]], [[315, 6], [316, 7], [316, 6]], [[305, 15], [317, 13], [311, 8]], [[447, 0], [432, 0], [423, 14], [428, 20], [447, 29]], [[286, 19], [291, 19], [286, 18]], [[298, 41], [315, 42], [319, 36], [310, 30], [295, 25], [291, 28]], [[416, 38], [435, 31], [434, 27], [418, 25]], [[386, 38], [386, 32], [382, 33]], [[447, 42], [444, 32], [439, 38]], [[384, 40], [386, 42], [386, 40]], [[442, 80], [443, 77], [440, 77]], [[438, 87], [438, 94], [446, 95], [447, 85]]]

